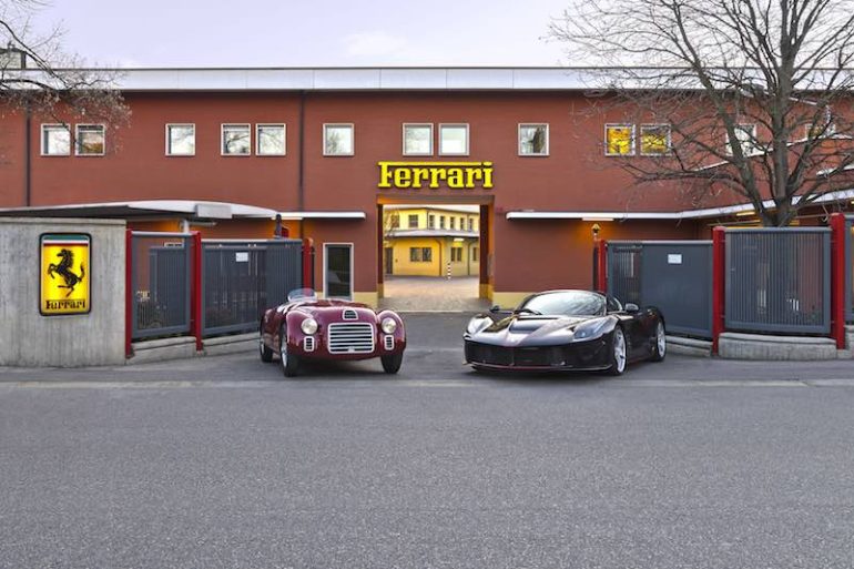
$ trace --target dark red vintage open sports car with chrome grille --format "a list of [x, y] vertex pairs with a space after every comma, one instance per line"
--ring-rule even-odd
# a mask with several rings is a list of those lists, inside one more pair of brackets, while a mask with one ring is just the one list
[[305, 359], [354, 360], [378, 357], [387, 374], [404, 360], [404, 321], [392, 311], [376, 313], [365, 304], [318, 299], [311, 288], [287, 295], [261, 321], [261, 359], [278, 354], [282, 372], [293, 377]]

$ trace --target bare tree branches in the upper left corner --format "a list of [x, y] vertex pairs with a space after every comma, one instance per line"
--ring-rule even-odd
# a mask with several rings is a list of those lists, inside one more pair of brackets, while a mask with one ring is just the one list
[[0, 0], [0, 98], [12, 110], [52, 116], [67, 113], [113, 124], [129, 110], [114, 89], [118, 73], [87, 69], [63, 52], [59, 28], [37, 34], [32, 18], [41, 0]]

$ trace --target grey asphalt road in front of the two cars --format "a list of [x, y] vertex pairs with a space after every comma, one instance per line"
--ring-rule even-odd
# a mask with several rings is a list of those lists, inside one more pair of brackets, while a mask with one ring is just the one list
[[851, 362], [480, 376], [459, 319], [395, 377], [0, 370], [0, 568], [852, 567]]

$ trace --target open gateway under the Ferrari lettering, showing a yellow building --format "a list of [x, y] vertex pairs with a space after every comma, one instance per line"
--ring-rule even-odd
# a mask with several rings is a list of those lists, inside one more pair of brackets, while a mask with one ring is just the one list
[[487, 308], [488, 286], [482, 285], [489, 282], [484, 224], [488, 209], [465, 203], [382, 204], [380, 304], [399, 311]]

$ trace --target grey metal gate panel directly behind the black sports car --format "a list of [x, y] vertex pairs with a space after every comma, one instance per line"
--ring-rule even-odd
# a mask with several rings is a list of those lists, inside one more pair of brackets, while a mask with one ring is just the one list
[[712, 337], [712, 242], [608, 242], [608, 294], [657, 306], [668, 333]]

